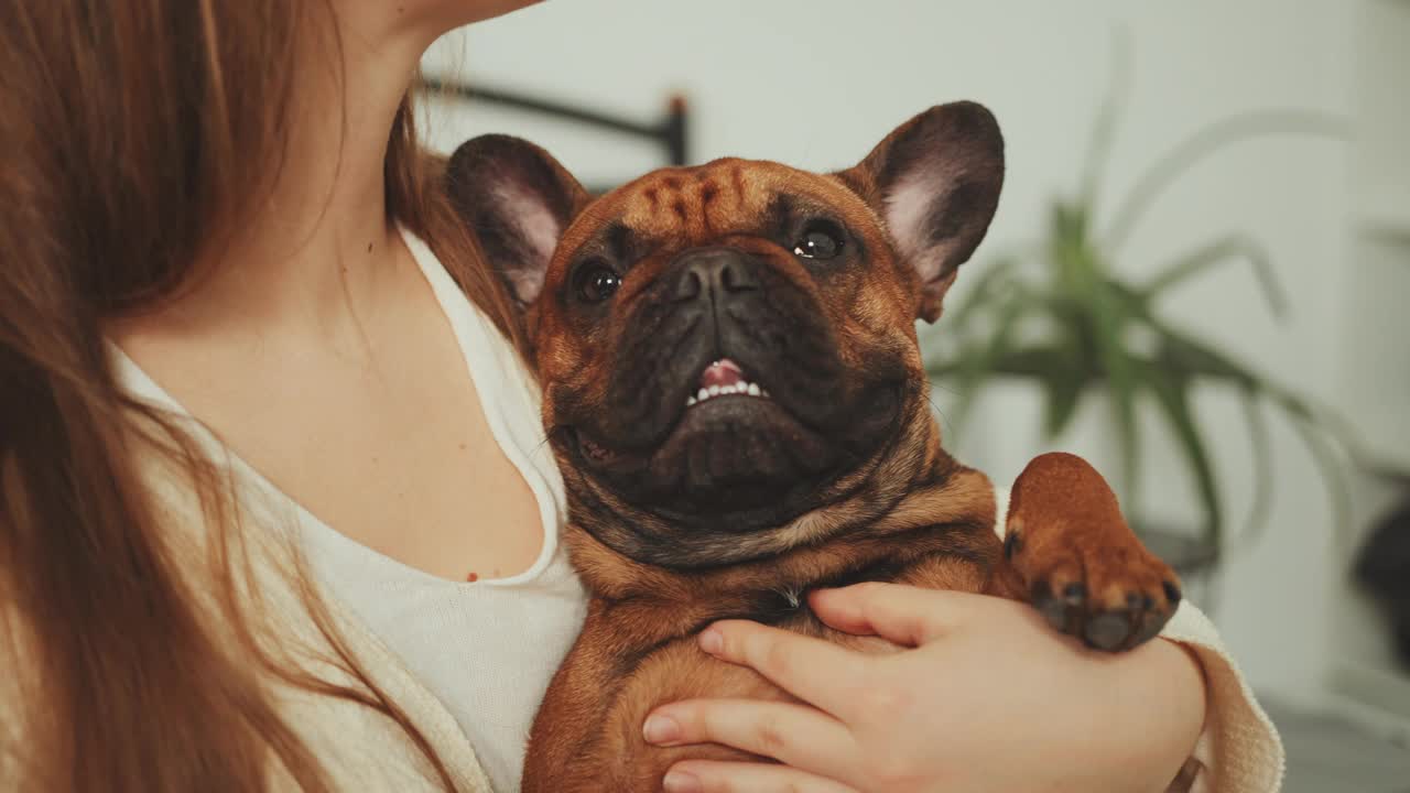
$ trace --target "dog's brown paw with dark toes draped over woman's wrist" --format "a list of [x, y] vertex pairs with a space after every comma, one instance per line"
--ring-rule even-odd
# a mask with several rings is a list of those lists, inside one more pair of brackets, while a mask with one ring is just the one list
[[1015, 521], [1004, 543], [1034, 608], [1058, 631], [1107, 652], [1155, 638], [1180, 604], [1175, 571], [1122, 529], [1125, 538], [1122, 532], [1077, 531], [1062, 532], [1074, 542], [1025, 545], [1025, 528]]

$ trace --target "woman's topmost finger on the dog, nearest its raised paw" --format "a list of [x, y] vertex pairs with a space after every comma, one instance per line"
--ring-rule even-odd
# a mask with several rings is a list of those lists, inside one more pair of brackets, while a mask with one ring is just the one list
[[904, 584], [854, 584], [819, 590], [808, 600], [814, 614], [829, 626], [857, 635], [876, 635], [908, 648], [925, 645], [973, 610], [966, 593], [922, 590]]

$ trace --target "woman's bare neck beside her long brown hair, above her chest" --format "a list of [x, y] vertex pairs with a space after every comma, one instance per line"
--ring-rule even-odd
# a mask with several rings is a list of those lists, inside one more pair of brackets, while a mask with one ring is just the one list
[[282, 164], [250, 220], [162, 310], [182, 333], [355, 336], [396, 277], [384, 164], [402, 97], [434, 37], [396, 30], [393, 3], [347, 3], [337, 37], [300, 54]]

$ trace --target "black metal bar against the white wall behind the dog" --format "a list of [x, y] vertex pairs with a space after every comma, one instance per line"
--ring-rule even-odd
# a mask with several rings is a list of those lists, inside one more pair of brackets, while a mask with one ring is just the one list
[[471, 86], [440, 78], [423, 78], [422, 87], [434, 96], [501, 104], [516, 110], [526, 110], [530, 113], [587, 124], [589, 127], [598, 127], [601, 130], [623, 135], [646, 138], [661, 147], [668, 165], [689, 164], [689, 107], [681, 96], [670, 99], [664, 119], [654, 123], [642, 123], [613, 113], [603, 113], [588, 107], [539, 99], [482, 85]]

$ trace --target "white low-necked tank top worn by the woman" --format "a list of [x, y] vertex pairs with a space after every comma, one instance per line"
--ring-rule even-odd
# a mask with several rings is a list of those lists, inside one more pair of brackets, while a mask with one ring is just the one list
[[[402, 238], [446, 312], [479, 394], [485, 420], [533, 491], [543, 550], [529, 570], [457, 583], [378, 553], [319, 521], [228, 453], [238, 488], [290, 515], [330, 597], [357, 615], [444, 704], [465, 731], [498, 793], [519, 790], [525, 744], [539, 701], [587, 612], [587, 594], [558, 542], [563, 480], [539, 418], [539, 389], [509, 341], [407, 231]], [[121, 350], [118, 382], [134, 396], [190, 413]], [[474, 521], [475, 515], [465, 515]]]

